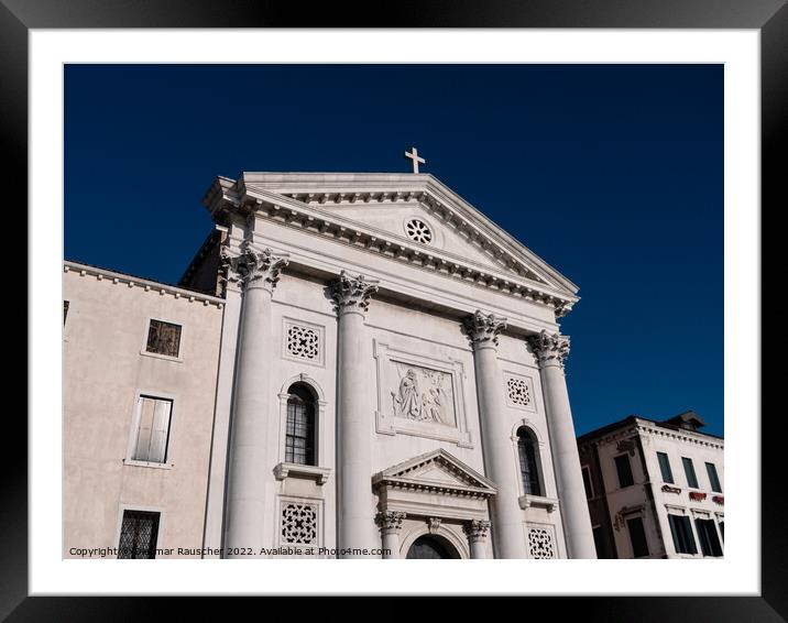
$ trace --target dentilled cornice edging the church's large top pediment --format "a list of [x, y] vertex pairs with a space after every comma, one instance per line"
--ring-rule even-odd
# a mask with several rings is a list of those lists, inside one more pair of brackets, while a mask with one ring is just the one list
[[[442, 223], [486, 251], [499, 269], [404, 236], [351, 220], [330, 209], [355, 203], [418, 201]], [[336, 242], [361, 248], [466, 283], [552, 308], [557, 317], [578, 300], [577, 286], [536, 258], [431, 175], [250, 174], [238, 182], [217, 178], [204, 203], [215, 219], [225, 212], [254, 212]]]

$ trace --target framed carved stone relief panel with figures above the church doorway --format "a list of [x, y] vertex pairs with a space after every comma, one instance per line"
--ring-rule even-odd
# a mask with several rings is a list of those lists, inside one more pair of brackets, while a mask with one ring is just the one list
[[375, 340], [377, 433], [415, 435], [471, 447], [462, 362], [434, 359]]

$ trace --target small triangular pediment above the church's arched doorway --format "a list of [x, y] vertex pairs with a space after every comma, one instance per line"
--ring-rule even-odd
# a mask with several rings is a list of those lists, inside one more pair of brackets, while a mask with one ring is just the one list
[[494, 495], [496, 492], [491, 480], [442, 448], [390, 467], [376, 474], [372, 482], [373, 484], [437, 491], [466, 491], [486, 495]]

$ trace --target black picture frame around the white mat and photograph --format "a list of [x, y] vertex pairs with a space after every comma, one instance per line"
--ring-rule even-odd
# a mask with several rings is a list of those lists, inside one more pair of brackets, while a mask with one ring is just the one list
[[[381, 9], [385, 9], [381, 11]], [[762, 54], [762, 215], [785, 206], [784, 165], [788, 128], [788, 7], [784, 0], [422, 0], [419, 2], [315, 3], [251, 0], [0, 0], [0, 135], [7, 156], [9, 216], [26, 205], [28, 34], [31, 29], [103, 28], [613, 28], [613, 29], [756, 29]], [[10, 220], [10, 219], [9, 219]], [[7, 227], [11, 226], [9, 222]], [[33, 234], [34, 232], [29, 232]], [[766, 266], [765, 266], [766, 269]], [[14, 300], [20, 300], [15, 296]], [[34, 327], [29, 325], [29, 331]], [[691, 353], [688, 353], [691, 357]], [[760, 362], [752, 362], [760, 365]], [[766, 367], [763, 367], [766, 371]], [[31, 370], [34, 373], [34, 370]], [[781, 461], [785, 438], [781, 414], [764, 412], [762, 427], [762, 592], [760, 597], [578, 597], [527, 599], [523, 616], [583, 621], [785, 621], [788, 619], [788, 515]], [[757, 425], [758, 414], [752, 414]], [[7, 414], [6, 434], [26, 439], [22, 418]], [[26, 452], [26, 444], [15, 444]], [[28, 597], [26, 460], [7, 460], [0, 479], [0, 619], [8, 621], [140, 621], [165, 614], [161, 602], [176, 599], [179, 617], [227, 615], [227, 601], [185, 598]], [[309, 590], [308, 587], [305, 587]], [[89, 591], [89, 587], [86, 587]], [[352, 588], [349, 587], [349, 592]], [[154, 605], [150, 600], [156, 599]], [[265, 616], [277, 602], [265, 599]], [[299, 615], [310, 609], [325, 615], [326, 599], [298, 601]], [[396, 603], [386, 605], [380, 600]], [[407, 598], [416, 599], [416, 598]], [[238, 604], [241, 608], [251, 605]], [[424, 600], [422, 600], [424, 601]], [[441, 617], [466, 600], [440, 600]], [[256, 603], [261, 603], [258, 599]], [[233, 604], [234, 609], [237, 605]], [[336, 608], [336, 606], [335, 606]], [[379, 598], [370, 606], [375, 619], [424, 613], [400, 598]], [[346, 611], [347, 612], [347, 611]], [[501, 614], [511, 613], [510, 610]], [[335, 614], [340, 612], [335, 611]], [[459, 614], [459, 611], [457, 611]], [[510, 615], [510, 614], [506, 614]]]

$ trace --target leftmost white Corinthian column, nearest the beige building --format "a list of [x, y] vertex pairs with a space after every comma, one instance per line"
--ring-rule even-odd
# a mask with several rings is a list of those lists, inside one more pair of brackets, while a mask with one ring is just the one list
[[242, 243], [240, 255], [222, 252], [227, 280], [238, 282], [243, 292], [228, 469], [228, 548], [259, 551], [265, 545], [265, 429], [271, 352], [275, 350], [271, 343], [271, 297], [287, 261], [286, 256], [273, 255], [271, 249], [256, 251], [248, 241]]

